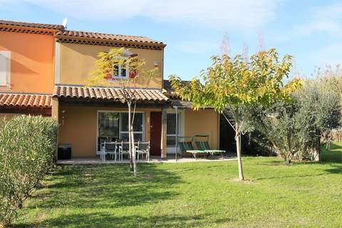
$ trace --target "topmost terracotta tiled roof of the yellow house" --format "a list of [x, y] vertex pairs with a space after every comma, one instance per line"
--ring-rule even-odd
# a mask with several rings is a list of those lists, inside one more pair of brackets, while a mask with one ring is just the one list
[[128, 36], [128, 35], [95, 33], [95, 32], [86, 32], [86, 31], [63, 30], [63, 31], [58, 31], [58, 33], [56, 33], [56, 36], [57, 38], [58, 36], [68, 36], [68, 37], [73, 37], [73, 38], [93, 38], [93, 39], [110, 40], [110, 41], [127, 41], [127, 42], [163, 44], [160, 41], [155, 41], [145, 36]]

